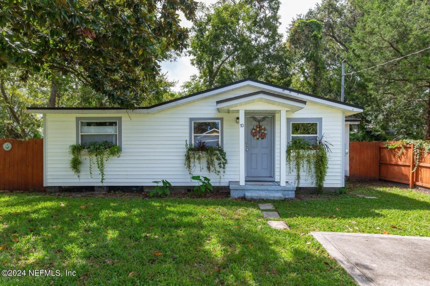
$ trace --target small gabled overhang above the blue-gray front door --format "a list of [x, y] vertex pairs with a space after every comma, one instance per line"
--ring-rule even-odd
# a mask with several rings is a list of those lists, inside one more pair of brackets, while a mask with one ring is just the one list
[[217, 101], [218, 111], [225, 113], [239, 113], [241, 109], [260, 112], [279, 112], [281, 110], [296, 112], [305, 106], [306, 101], [267, 91], [256, 91], [243, 96]]

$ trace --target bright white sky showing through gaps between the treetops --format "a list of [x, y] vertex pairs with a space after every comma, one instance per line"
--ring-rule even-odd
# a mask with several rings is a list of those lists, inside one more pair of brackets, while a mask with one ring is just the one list
[[[216, 2], [216, 0], [203, 0], [206, 5], [210, 5]], [[281, 15], [281, 26], [279, 26], [279, 32], [285, 34], [287, 27], [297, 14], [305, 14], [310, 8], [314, 8], [317, 3], [321, 3], [321, 0], [281, 0], [281, 8], [279, 9], [279, 15]], [[191, 27], [191, 22], [187, 21], [183, 15], [181, 15], [182, 26]], [[181, 85], [188, 81], [190, 76], [197, 74], [198, 71], [191, 65], [190, 57], [182, 56], [175, 62], [162, 62], [161, 72], [167, 75], [169, 80], [177, 81], [178, 83], [173, 88], [174, 91], [179, 91]]]

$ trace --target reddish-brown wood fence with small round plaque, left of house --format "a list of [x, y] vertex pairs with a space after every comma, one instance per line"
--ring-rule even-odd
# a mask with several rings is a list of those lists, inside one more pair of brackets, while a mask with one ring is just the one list
[[[12, 144], [11, 150], [3, 149], [5, 142]], [[43, 146], [43, 139], [0, 139], [0, 190], [45, 189]]]

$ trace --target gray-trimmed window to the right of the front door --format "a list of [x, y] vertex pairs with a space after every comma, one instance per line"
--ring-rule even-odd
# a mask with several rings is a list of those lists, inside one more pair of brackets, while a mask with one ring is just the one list
[[287, 118], [290, 128], [287, 141], [302, 139], [315, 144], [321, 136], [322, 118]]

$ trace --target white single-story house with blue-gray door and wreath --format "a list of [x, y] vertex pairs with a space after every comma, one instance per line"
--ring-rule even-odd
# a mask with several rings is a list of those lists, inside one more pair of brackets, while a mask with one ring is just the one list
[[[238, 190], [233, 196], [243, 196], [244, 189], [262, 190], [255, 187], [262, 185], [294, 190], [294, 172], [286, 165], [288, 142], [322, 134], [333, 145], [325, 187], [343, 187], [348, 172], [350, 122], [346, 116], [363, 108], [246, 79], [136, 110], [30, 107], [28, 111], [44, 114], [46, 186], [100, 186], [98, 174], [90, 177], [88, 162], [84, 161], [80, 178], [69, 169], [69, 146], [94, 140], [110, 140], [122, 150], [121, 157], [106, 163], [105, 186], [153, 186], [152, 181], [161, 179], [190, 186], [195, 182], [184, 166], [185, 140], [204, 139], [208, 145], [219, 144], [227, 154], [220, 184], [230, 184]], [[251, 130], [262, 119], [267, 137], [256, 140]], [[292, 134], [292, 127], [304, 131]], [[218, 185], [217, 175], [199, 171], [195, 175], [207, 176]], [[300, 186], [312, 187], [312, 180], [302, 179]]]

